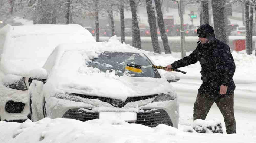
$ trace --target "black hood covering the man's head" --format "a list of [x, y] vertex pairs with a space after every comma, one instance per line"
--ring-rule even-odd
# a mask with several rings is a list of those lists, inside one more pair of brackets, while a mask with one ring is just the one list
[[215, 38], [214, 29], [209, 24], [203, 24], [197, 29], [198, 37], [201, 38]]

